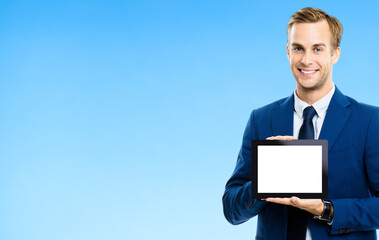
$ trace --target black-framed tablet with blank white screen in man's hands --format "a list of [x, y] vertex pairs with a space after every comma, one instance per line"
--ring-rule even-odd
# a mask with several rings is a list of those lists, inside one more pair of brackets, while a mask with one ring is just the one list
[[253, 140], [252, 197], [328, 197], [327, 140]]

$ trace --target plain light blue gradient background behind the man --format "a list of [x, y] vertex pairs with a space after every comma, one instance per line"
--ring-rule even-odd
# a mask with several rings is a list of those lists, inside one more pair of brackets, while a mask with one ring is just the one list
[[250, 111], [295, 88], [306, 6], [379, 105], [376, 1], [0, 1], [0, 239], [252, 239], [221, 197]]

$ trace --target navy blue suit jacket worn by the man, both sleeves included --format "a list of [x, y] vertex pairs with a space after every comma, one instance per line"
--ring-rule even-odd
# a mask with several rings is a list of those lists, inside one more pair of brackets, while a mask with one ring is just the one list
[[[251, 141], [293, 134], [293, 95], [251, 113], [236, 168], [226, 184], [224, 215], [232, 224], [258, 215], [256, 239], [285, 239], [287, 206], [251, 200]], [[319, 139], [328, 140], [328, 199], [333, 224], [308, 216], [313, 240], [376, 239], [379, 228], [379, 109], [337, 88]]]

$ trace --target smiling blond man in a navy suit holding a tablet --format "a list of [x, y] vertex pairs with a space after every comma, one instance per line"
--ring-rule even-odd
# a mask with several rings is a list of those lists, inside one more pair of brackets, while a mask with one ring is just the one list
[[[301, 9], [287, 25], [295, 92], [252, 112], [223, 196], [230, 223], [258, 215], [256, 239], [376, 239], [379, 109], [358, 103], [334, 86], [341, 36], [340, 22], [320, 9]], [[302, 137], [306, 124], [311, 126], [310, 138], [328, 140], [329, 198], [253, 200], [251, 141], [309, 138]]]

